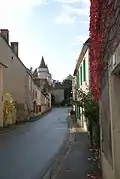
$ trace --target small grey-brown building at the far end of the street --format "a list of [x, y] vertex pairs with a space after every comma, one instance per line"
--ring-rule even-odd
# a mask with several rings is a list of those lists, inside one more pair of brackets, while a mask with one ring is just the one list
[[60, 82], [53, 83], [52, 94], [55, 97], [55, 104], [60, 104], [64, 100], [64, 87]]

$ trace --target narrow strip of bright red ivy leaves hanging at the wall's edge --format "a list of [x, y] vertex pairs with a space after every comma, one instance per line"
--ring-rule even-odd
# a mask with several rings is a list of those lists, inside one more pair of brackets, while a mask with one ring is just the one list
[[101, 36], [98, 33], [99, 24], [99, 10], [100, 0], [90, 0], [90, 81], [91, 81], [91, 92], [94, 95], [95, 100], [99, 99], [100, 94], [100, 70], [101, 61], [100, 56], [100, 40]]

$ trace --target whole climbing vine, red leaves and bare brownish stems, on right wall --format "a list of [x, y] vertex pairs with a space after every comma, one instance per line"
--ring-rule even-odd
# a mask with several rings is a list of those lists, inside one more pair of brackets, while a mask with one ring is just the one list
[[90, 80], [96, 101], [100, 95], [101, 72], [120, 43], [119, 29], [119, 0], [90, 0]]

